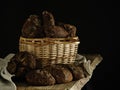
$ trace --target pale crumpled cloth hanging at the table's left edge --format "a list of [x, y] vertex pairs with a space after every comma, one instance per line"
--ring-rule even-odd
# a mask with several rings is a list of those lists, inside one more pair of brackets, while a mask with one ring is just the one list
[[14, 75], [11, 75], [6, 69], [13, 56], [14, 54], [9, 54], [4, 59], [0, 58], [0, 90], [16, 90], [16, 85], [11, 79]]

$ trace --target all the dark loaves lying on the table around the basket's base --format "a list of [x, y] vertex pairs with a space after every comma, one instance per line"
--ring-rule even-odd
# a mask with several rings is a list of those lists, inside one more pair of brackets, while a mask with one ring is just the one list
[[14, 80], [27, 82], [29, 85], [54, 85], [85, 78], [82, 63], [53, 64], [41, 67], [37, 57], [29, 52], [18, 52], [10, 62], [7, 70], [15, 74]]

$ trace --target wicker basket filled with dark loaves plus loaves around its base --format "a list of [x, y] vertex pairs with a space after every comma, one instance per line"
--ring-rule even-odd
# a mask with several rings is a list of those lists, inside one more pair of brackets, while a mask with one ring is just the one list
[[74, 25], [55, 22], [48, 11], [42, 18], [30, 15], [23, 24], [19, 52], [7, 66], [13, 79], [46, 86], [84, 78], [84, 67], [75, 64], [80, 43], [76, 30]]

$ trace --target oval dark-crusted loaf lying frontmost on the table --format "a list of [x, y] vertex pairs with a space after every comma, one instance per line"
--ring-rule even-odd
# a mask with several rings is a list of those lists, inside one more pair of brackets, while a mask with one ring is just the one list
[[30, 85], [54, 85], [55, 78], [50, 72], [44, 69], [32, 70], [26, 74], [26, 81]]

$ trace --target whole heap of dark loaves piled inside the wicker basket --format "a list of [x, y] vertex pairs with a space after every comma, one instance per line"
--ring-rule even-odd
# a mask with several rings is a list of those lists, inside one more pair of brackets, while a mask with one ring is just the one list
[[55, 22], [52, 13], [43, 11], [42, 19], [38, 15], [30, 15], [22, 28], [22, 36], [26, 38], [66, 38], [76, 36], [76, 27], [70, 24]]

